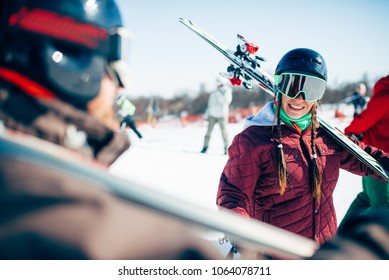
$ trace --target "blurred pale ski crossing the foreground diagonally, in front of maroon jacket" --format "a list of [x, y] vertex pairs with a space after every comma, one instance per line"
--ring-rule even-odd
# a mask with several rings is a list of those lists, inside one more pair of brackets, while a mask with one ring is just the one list
[[180, 200], [142, 184], [102, 172], [101, 169], [65, 160], [52, 152], [37, 150], [22, 142], [10, 141], [4, 136], [0, 136], [0, 155], [16, 161], [34, 162], [47, 170], [92, 181], [115, 196], [186, 222], [200, 236], [214, 235], [215, 232], [225, 234], [228, 240], [251, 252], [302, 259], [312, 256], [318, 248], [313, 240], [270, 224], [243, 218], [227, 209], [215, 211]]

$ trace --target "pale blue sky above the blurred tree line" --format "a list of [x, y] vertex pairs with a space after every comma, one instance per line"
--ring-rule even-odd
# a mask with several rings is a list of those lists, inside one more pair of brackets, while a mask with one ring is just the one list
[[214, 86], [226, 60], [178, 22], [192, 20], [224, 45], [235, 48], [236, 34], [259, 44], [270, 73], [297, 47], [321, 53], [330, 86], [373, 83], [389, 74], [389, 1], [117, 0], [124, 24], [133, 33], [133, 96], [174, 96]]

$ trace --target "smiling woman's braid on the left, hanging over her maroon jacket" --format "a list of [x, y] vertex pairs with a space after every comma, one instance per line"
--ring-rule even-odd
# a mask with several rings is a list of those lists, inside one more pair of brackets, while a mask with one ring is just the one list
[[280, 108], [282, 105], [282, 94], [278, 94], [277, 98], [277, 111], [276, 111], [276, 118], [277, 118], [277, 174], [278, 174], [278, 187], [280, 189], [280, 194], [283, 195], [286, 188], [286, 161], [285, 161], [285, 155], [284, 151], [282, 149], [282, 142], [281, 142], [281, 116], [280, 116]]

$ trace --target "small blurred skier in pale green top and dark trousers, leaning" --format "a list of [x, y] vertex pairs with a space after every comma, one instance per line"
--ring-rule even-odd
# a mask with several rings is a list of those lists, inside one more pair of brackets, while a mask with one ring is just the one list
[[125, 131], [127, 127], [130, 127], [138, 136], [139, 139], [142, 139], [142, 134], [136, 128], [135, 121], [133, 116], [135, 114], [136, 107], [127, 96], [120, 94], [116, 97], [116, 104], [118, 105], [118, 115], [120, 118], [120, 131]]

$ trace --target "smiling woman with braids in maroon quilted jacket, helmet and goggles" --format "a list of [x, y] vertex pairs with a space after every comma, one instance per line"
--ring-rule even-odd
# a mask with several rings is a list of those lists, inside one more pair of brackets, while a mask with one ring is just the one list
[[[377, 175], [339, 146], [316, 119], [327, 68], [310, 49], [294, 49], [275, 71], [276, 96], [235, 136], [217, 205], [324, 243], [337, 230], [333, 192], [339, 169]], [[389, 169], [389, 154], [356, 141]]]

